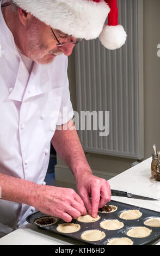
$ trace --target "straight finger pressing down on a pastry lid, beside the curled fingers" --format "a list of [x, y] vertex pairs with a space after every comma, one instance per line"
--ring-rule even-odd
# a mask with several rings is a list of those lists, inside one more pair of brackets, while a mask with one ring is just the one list
[[93, 218], [97, 217], [97, 213], [99, 210], [99, 203], [100, 203], [100, 197], [101, 197], [101, 190], [100, 185], [95, 184], [94, 187], [91, 188], [91, 216]]

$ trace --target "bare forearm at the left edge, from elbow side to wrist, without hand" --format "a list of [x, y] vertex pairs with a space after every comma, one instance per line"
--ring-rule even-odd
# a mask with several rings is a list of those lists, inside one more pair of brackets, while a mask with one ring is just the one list
[[34, 182], [0, 173], [1, 199], [32, 205], [39, 186]]

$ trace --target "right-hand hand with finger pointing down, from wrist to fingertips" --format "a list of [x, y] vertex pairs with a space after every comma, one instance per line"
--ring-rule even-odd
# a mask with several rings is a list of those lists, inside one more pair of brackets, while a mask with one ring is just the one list
[[97, 217], [99, 208], [102, 208], [111, 198], [108, 181], [91, 173], [84, 173], [77, 179], [77, 190], [88, 210], [88, 214], [94, 218]]

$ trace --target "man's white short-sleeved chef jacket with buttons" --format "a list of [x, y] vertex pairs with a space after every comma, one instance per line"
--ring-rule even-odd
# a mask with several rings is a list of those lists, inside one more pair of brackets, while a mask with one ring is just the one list
[[[73, 118], [67, 57], [34, 63], [29, 75], [1, 8], [0, 33], [0, 172], [43, 184], [56, 126]], [[0, 237], [26, 224], [33, 211], [0, 199]]]

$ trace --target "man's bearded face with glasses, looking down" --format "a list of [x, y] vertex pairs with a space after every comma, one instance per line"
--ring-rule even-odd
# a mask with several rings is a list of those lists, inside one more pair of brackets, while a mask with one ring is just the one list
[[25, 54], [30, 59], [40, 64], [49, 64], [59, 54], [69, 56], [72, 53], [74, 44], [68, 43], [70, 39], [76, 41], [66, 34], [54, 29], [57, 39], [60, 42], [67, 42], [63, 46], [57, 46], [58, 42], [54, 37], [50, 26], [33, 17], [32, 22], [26, 26]]

